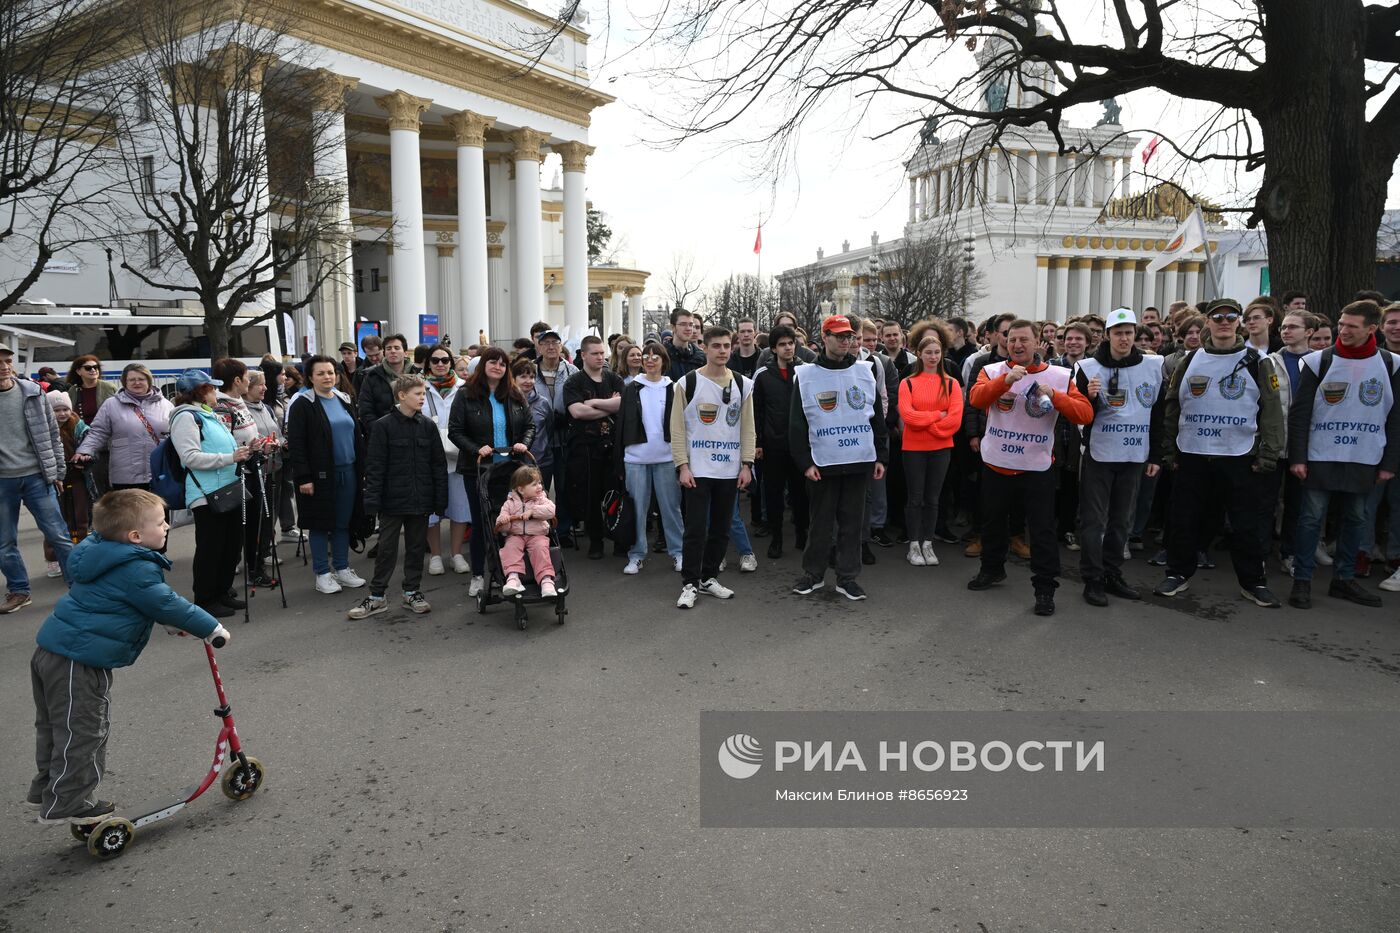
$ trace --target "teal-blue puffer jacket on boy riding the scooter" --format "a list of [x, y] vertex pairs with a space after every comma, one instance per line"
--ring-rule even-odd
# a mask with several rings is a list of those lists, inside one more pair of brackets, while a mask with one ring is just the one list
[[169, 569], [150, 548], [88, 535], [69, 555], [73, 588], [39, 626], [39, 647], [112, 668], [136, 663], [157, 622], [209, 637], [218, 622], [167, 586]]

